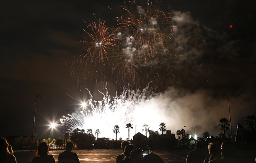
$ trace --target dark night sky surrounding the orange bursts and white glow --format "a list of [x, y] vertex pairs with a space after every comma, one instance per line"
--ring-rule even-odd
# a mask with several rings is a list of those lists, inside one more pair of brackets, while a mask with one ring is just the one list
[[[201, 125], [209, 120], [213, 123], [209, 131], [216, 134], [218, 120], [229, 118], [223, 93], [232, 93], [235, 131], [236, 123], [256, 114], [255, 0], [163, 0], [162, 4], [163, 11], [172, 13], [172, 63], [167, 64], [169, 69], [159, 68], [161, 73], [150, 76], [147, 82], [137, 78], [134, 88], [143, 88], [154, 80], [158, 95], [167, 98], [168, 104], [176, 102], [176, 113], [182, 112], [177, 114], [180, 127], [172, 127], [173, 122], [168, 121], [175, 117], [161, 119], [172, 133], [184, 125], [188, 132], [205, 132], [207, 126]], [[117, 84], [115, 77], [120, 74], [108, 74], [104, 79], [87, 76], [83, 86], [79, 83], [77, 88], [71, 75], [74, 59], [85, 53], [81, 43], [86, 35], [83, 29], [99, 19], [106, 21], [110, 29], [116, 28], [116, 17], [124, 14], [125, 5], [119, 0], [0, 2], [0, 136], [32, 135], [36, 95], [41, 97], [37, 98], [35, 132], [42, 134], [47, 128], [43, 126], [48, 124], [46, 119], [57, 121], [67, 109], [70, 113], [77, 110], [77, 101], [71, 97], [89, 98], [85, 87], [100, 99], [97, 90], [102, 90], [106, 82], [111, 95], [127, 86], [126, 80]], [[97, 74], [107, 74], [106, 71], [99, 68]], [[168, 108], [161, 106], [159, 112], [174, 115]], [[196, 124], [188, 127], [188, 123]]]

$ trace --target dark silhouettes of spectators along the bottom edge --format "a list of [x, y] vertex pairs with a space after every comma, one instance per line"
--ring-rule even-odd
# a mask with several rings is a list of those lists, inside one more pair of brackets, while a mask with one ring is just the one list
[[[136, 148], [127, 140], [122, 141], [120, 146], [122, 153], [116, 156], [116, 163], [164, 163], [153, 150], [145, 152], [146, 149]], [[58, 163], [80, 163], [77, 154], [72, 152], [73, 148], [72, 142], [66, 143], [66, 150], [59, 154]], [[186, 156], [186, 163], [238, 163], [234, 157], [235, 149], [232, 141], [221, 143], [213, 137], [208, 141], [197, 140], [195, 149]], [[49, 154], [48, 143], [44, 141], [39, 144], [36, 154], [39, 156], [34, 157], [31, 163], [55, 163], [54, 156]], [[5, 138], [0, 138], [0, 163], [17, 163], [14, 151]]]

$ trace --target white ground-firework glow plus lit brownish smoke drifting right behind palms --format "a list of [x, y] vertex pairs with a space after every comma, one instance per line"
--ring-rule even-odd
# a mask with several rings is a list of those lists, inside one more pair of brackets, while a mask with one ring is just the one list
[[[251, 94], [252, 95], [252, 94]], [[143, 132], [143, 124], [147, 123], [149, 129], [156, 131], [159, 123], [166, 123], [167, 130], [171, 130], [176, 136], [176, 131], [186, 126], [188, 134], [197, 134], [202, 137], [203, 132], [211, 135], [219, 134], [218, 121], [222, 117], [229, 119], [227, 98], [212, 97], [212, 92], [199, 89], [193, 93], [185, 90], [177, 90], [170, 87], [163, 93], [155, 93], [149, 85], [143, 90], [124, 89], [120, 95], [110, 97], [108, 91], [102, 93], [102, 100], [94, 101], [91, 98], [87, 108], [82, 108], [67, 116], [67, 131], [72, 132], [76, 128], [100, 129], [99, 137], [115, 139], [113, 126], [120, 127], [118, 139], [128, 138], [126, 123], [131, 123], [134, 129], [130, 130], [130, 137], [136, 132]], [[230, 97], [232, 129], [236, 131], [236, 124], [243, 125], [245, 117], [252, 112], [253, 107], [249, 100], [240, 102], [240, 97]], [[251, 99], [253, 96], [251, 96]], [[65, 116], [61, 119], [65, 124]]]

